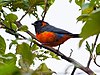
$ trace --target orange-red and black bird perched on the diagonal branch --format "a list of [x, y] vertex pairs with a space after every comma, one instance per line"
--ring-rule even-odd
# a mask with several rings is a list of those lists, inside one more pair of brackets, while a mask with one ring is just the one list
[[68, 39], [80, 37], [79, 34], [57, 28], [42, 20], [35, 21], [32, 25], [35, 27], [36, 38], [40, 43], [50, 47], [58, 46], [58, 50]]

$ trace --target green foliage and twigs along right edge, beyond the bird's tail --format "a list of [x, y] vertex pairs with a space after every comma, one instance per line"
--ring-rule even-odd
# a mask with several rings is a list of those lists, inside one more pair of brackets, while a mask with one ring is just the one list
[[[99, 33], [100, 33], [100, 1], [99, 0], [75, 0], [76, 4], [80, 7], [81, 15], [77, 18], [78, 21], [84, 22], [82, 27], [80, 37], [79, 47], [82, 45], [83, 41], [89, 38], [90, 36], [96, 35], [95, 41], [90, 45], [86, 41], [86, 50], [90, 53], [90, 58], [87, 63], [89, 67], [91, 60], [94, 60], [96, 63], [96, 57], [100, 55], [100, 42], [97, 44]], [[96, 48], [96, 50], [95, 50]], [[96, 55], [95, 55], [95, 54]], [[95, 57], [96, 56], [96, 57]]]

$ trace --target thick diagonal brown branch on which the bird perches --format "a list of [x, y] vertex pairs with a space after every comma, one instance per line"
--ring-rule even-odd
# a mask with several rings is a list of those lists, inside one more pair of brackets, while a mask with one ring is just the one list
[[[20, 22], [16, 22], [16, 24], [19, 24], [18, 26], [21, 26], [22, 24]], [[36, 39], [35, 35], [33, 33], [31, 33], [30, 31], [27, 31], [27, 33], [33, 38], [33, 39]], [[36, 39], [37, 40], [37, 39]], [[70, 58], [70, 57], [67, 57], [65, 56], [63, 53], [61, 53], [60, 51], [52, 48], [52, 47], [49, 47], [49, 46], [45, 46], [45, 45], [41, 45], [39, 44], [38, 42], [36, 41], [33, 41], [35, 44], [37, 44], [39, 47], [43, 47], [47, 50], [50, 50], [52, 52], [54, 52], [55, 54], [57, 54], [58, 56], [60, 56], [62, 59], [74, 64], [74, 66], [76, 68], [79, 68], [81, 70], [83, 70], [84, 72], [86, 72], [87, 74], [89, 75], [95, 75], [95, 73], [88, 67], [84, 67], [83, 65], [81, 65], [79, 62], [77, 62], [76, 60]]]

